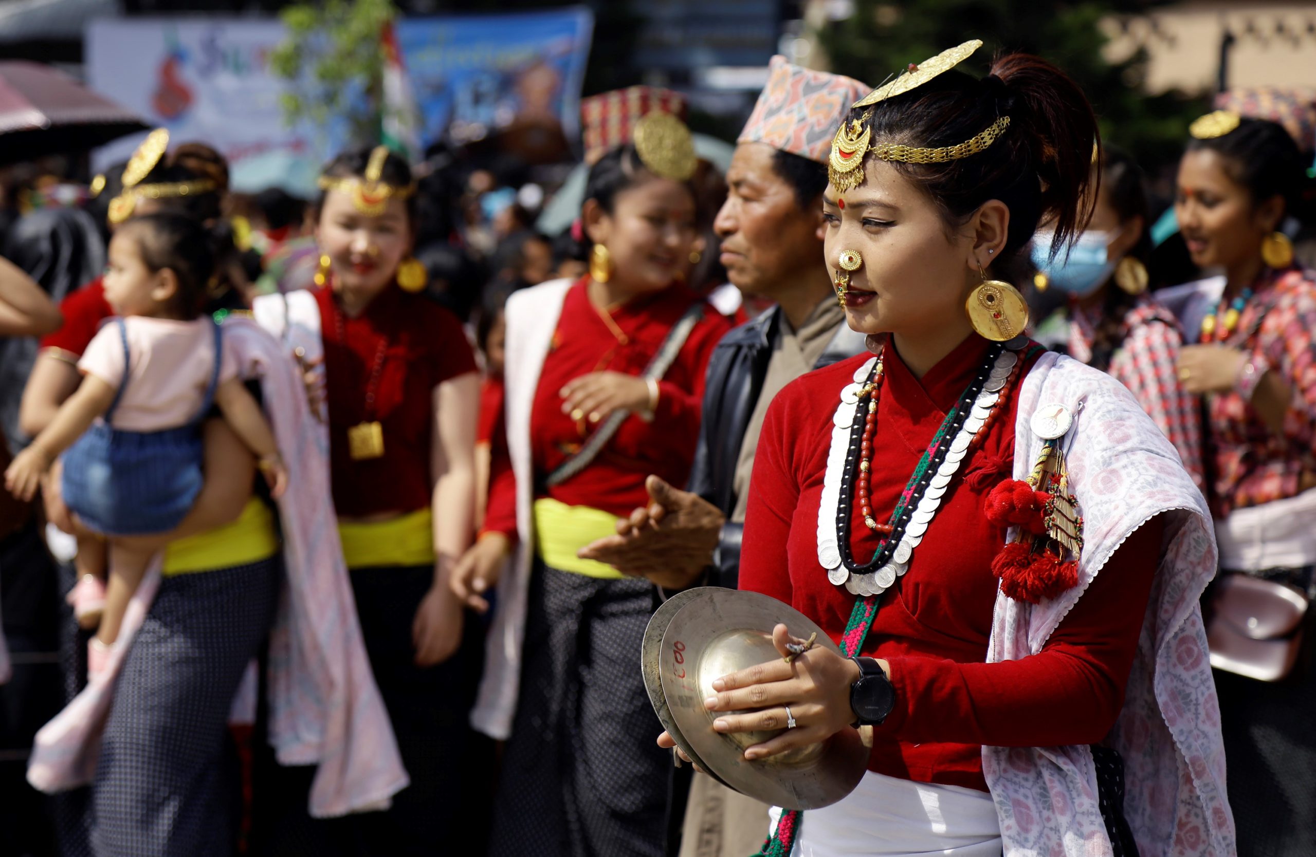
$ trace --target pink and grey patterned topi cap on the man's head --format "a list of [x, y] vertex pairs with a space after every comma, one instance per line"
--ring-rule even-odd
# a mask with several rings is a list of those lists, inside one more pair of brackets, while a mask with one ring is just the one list
[[767, 85], [736, 142], [767, 143], [825, 164], [841, 118], [871, 89], [853, 78], [801, 68], [784, 57], [772, 57]]

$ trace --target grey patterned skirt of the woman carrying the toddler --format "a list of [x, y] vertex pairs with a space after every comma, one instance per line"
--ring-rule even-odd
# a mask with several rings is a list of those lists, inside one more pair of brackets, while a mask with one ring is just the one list
[[274, 622], [282, 561], [166, 577], [114, 689], [92, 790], [97, 857], [230, 857], [233, 695]]

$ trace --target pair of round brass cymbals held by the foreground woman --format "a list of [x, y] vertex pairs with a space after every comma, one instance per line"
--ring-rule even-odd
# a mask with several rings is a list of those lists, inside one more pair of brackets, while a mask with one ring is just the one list
[[857, 730], [770, 758], [746, 760], [745, 749], [778, 732], [724, 735], [708, 711], [713, 680], [780, 659], [772, 627], [841, 653], [808, 616], [775, 598], [707, 586], [669, 598], [645, 628], [641, 668], [649, 701], [676, 745], [722, 785], [787, 810], [816, 810], [850, 794], [867, 769], [869, 749]]

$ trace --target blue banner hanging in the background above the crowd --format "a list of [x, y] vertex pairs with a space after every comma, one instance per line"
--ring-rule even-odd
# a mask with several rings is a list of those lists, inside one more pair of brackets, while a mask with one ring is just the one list
[[399, 21], [424, 142], [466, 143], [515, 122], [558, 122], [574, 139], [592, 32], [586, 8]]

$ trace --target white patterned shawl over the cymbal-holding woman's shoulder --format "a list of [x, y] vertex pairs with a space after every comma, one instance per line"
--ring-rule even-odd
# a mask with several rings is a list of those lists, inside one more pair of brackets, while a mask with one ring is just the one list
[[[1115, 551], [1165, 515], [1152, 589], [1124, 708], [1111, 735], [1124, 757], [1125, 816], [1148, 857], [1228, 857], [1233, 818], [1225, 794], [1220, 706], [1198, 599], [1216, 570], [1211, 515], [1179, 456], [1132, 394], [1076, 360], [1044, 355], [1020, 392], [1015, 477], [1030, 472], [1042, 440], [1033, 411], [1065, 405], [1071, 486], [1084, 519], [1079, 585], [1041, 605], [996, 595], [990, 662], [1036, 655]], [[1111, 854], [1086, 745], [983, 747], [1008, 857]]]

